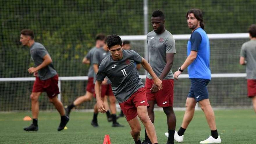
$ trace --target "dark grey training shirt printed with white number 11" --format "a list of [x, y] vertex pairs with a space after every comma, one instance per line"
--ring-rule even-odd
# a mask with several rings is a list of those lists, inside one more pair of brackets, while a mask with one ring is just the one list
[[123, 58], [114, 61], [108, 55], [99, 65], [96, 80], [103, 81], [107, 76], [111, 81], [112, 91], [119, 103], [125, 102], [144, 84], [134, 63], [141, 63], [142, 57], [133, 50], [122, 50]]

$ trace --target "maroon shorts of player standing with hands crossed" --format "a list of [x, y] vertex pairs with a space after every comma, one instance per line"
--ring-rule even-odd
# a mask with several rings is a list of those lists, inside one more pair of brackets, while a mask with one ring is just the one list
[[146, 78], [145, 91], [147, 100], [154, 100], [157, 105], [161, 107], [173, 106], [173, 79], [165, 79], [162, 81], [163, 89], [159, 90], [157, 93], [151, 93], [150, 89], [154, 82], [152, 79]]

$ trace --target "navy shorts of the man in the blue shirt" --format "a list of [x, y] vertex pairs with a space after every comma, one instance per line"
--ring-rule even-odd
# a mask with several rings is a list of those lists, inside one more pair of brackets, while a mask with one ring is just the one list
[[191, 78], [191, 86], [188, 97], [193, 97], [196, 102], [203, 99], [209, 99], [207, 85], [210, 82], [209, 79]]

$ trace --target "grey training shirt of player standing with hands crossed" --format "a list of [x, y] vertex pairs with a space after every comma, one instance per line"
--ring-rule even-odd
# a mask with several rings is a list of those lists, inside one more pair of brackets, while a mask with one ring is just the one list
[[[147, 34], [147, 45], [149, 51], [149, 64], [157, 77], [159, 77], [166, 65], [166, 54], [176, 53], [175, 40], [173, 35], [167, 30], [161, 34], [151, 31]], [[152, 79], [149, 73], [147, 73], [147, 78]], [[164, 79], [173, 79], [172, 70], [170, 70]]]

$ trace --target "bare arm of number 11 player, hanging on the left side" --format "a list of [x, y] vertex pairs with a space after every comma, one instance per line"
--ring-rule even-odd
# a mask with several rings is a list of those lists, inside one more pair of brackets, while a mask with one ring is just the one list
[[100, 97], [101, 83], [102, 83], [102, 81], [96, 80], [94, 89], [95, 89], [98, 112], [105, 113], [105, 112], [107, 112], [107, 110], [105, 109], [104, 102], [101, 100], [101, 97]]

